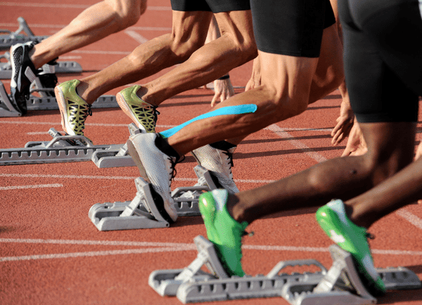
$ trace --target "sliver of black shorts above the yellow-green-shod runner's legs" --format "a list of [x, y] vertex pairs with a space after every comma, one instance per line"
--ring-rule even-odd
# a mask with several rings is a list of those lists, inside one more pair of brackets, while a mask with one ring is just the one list
[[172, 0], [172, 10], [222, 13], [250, 10], [249, 0]]

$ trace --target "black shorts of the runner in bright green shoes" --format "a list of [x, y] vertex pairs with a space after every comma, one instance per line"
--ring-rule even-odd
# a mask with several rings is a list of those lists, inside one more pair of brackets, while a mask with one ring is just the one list
[[416, 122], [422, 95], [417, 0], [343, 0], [345, 77], [358, 122]]

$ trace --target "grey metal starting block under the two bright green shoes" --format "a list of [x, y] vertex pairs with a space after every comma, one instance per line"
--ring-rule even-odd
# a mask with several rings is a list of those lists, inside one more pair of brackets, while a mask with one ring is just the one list
[[[352, 256], [337, 245], [329, 248], [333, 265], [327, 271], [314, 259], [280, 261], [267, 275], [229, 278], [215, 252], [203, 236], [193, 240], [198, 257], [184, 269], [153, 271], [148, 284], [161, 296], [176, 296], [182, 303], [283, 297], [292, 305], [376, 304], [366, 290]], [[201, 270], [205, 265], [210, 273]], [[314, 273], [283, 273], [286, 267], [316, 266]], [[388, 290], [420, 289], [421, 280], [407, 268], [377, 268]]]

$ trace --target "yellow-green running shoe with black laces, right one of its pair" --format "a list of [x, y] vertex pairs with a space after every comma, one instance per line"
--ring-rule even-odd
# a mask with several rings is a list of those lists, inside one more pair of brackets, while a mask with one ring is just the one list
[[155, 132], [155, 124], [157, 124], [157, 115], [159, 114], [155, 110], [157, 107], [146, 103], [136, 96], [139, 88], [141, 86], [136, 85], [117, 93], [117, 103], [139, 129], [145, 132]]

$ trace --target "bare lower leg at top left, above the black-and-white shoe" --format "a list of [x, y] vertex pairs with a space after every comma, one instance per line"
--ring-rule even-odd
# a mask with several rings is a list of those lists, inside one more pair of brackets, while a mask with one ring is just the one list
[[87, 46], [134, 25], [146, 11], [146, 0], [104, 0], [80, 13], [62, 30], [34, 46], [36, 68], [58, 56]]

